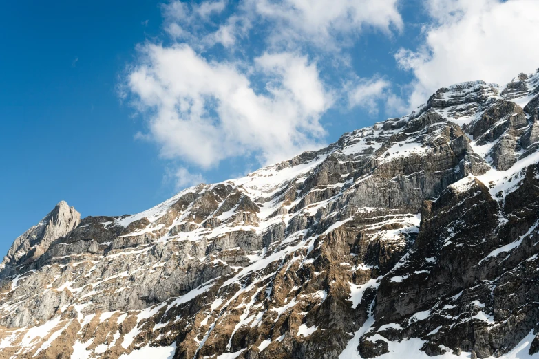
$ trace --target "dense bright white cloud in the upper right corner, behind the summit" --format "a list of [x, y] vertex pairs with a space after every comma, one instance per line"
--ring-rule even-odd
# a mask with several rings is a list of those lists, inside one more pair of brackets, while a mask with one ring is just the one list
[[416, 80], [410, 107], [436, 89], [466, 80], [505, 85], [538, 67], [536, 0], [425, 0], [433, 23], [419, 50], [401, 49], [397, 61]]

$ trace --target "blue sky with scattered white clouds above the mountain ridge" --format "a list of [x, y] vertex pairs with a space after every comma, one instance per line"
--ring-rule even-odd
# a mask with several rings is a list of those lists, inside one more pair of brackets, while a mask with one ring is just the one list
[[1, 7], [0, 252], [61, 199], [136, 213], [539, 67], [532, 0]]

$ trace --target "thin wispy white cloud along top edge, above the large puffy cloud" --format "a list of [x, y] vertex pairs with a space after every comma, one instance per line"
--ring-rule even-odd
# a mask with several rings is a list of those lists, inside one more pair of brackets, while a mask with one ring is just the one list
[[[183, 3], [171, 1], [162, 6], [165, 30], [191, 47], [231, 47], [257, 25], [273, 50], [297, 50], [302, 43], [319, 49], [337, 50], [351, 45], [366, 29], [391, 34], [401, 31], [403, 20], [399, 0], [243, 0], [235, 7], [226, 1]], [[235, 12], [220, 23], [212, 15], [226, 6]], [[205, 25], [212, 25], [209, 28]], [[215, 30], [217, 27], [217, 30]]]

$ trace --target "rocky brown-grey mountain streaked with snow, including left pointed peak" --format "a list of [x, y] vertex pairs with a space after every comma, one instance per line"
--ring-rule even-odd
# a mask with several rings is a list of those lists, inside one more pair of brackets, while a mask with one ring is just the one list
[[439, 89], [137, 215], [65, 202], [0, 270], [0, 358], [539, 358], [539, 73]]

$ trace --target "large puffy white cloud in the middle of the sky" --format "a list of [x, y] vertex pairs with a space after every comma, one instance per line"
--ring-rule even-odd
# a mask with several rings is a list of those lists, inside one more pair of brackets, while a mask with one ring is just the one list
[[149, 135], [168, 159], [209, 168], [227, 157], [255, 154], [263, 163], [321, 146], [320, 116], [332, 97], [317, 66], [283, 52], [255, 59], [262, 92], [233, 63], [209, 62], [188, 45], [147, 44], [127, 86], [149, 119]]

